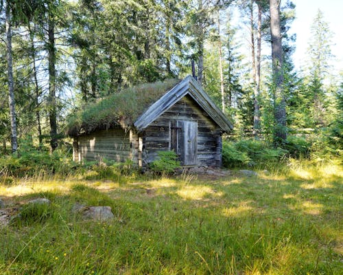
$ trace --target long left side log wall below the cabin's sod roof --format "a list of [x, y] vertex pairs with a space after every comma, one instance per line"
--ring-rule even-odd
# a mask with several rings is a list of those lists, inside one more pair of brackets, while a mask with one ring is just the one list
[[77, 142], [73, 146], [75, 161], [105, 158], [116, 162], [125, 162], [126, 159], [137, 162], [138, 136], [130, 131], [126, 132], [123, 129], [97, 131], [79, 136]]

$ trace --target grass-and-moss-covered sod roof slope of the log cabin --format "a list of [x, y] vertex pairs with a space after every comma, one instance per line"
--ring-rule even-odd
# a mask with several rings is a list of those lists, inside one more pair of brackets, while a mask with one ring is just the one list
[[115, 125], [130, 127], [139, 115], [179, 82], [177, 79], [168, 79], [145, 83], [88, 103], [69, 116], [67, 133], [76, 136]]

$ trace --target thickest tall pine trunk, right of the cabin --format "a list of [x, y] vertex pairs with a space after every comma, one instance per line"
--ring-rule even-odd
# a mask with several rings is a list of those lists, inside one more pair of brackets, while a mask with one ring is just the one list
[[286, 104], [283, 91], [283, 51], [280, 30], [279, 0], [270, 0], [270, 32], [272, 34], [272, 70], [274, 82], [274, 143], [283, 144], [287, 138]]

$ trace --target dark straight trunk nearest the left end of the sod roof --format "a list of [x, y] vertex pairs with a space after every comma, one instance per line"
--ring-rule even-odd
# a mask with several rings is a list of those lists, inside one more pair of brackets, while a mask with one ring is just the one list
[[49, 122], [50, 122], [50, 146], [53, 152], [57, 146], [57, 122], [56, 122], [56, 46], [55, 46], [55, 22], [54, 15], [49, 14], [48, 19], [48, 60], [49, 60]]

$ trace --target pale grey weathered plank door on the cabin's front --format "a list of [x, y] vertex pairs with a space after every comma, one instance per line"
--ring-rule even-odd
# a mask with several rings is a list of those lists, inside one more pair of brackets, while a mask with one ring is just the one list
[[183, 165], [196, 165], [198, 158], [198, 122], [178, 121], [178, 154]]

